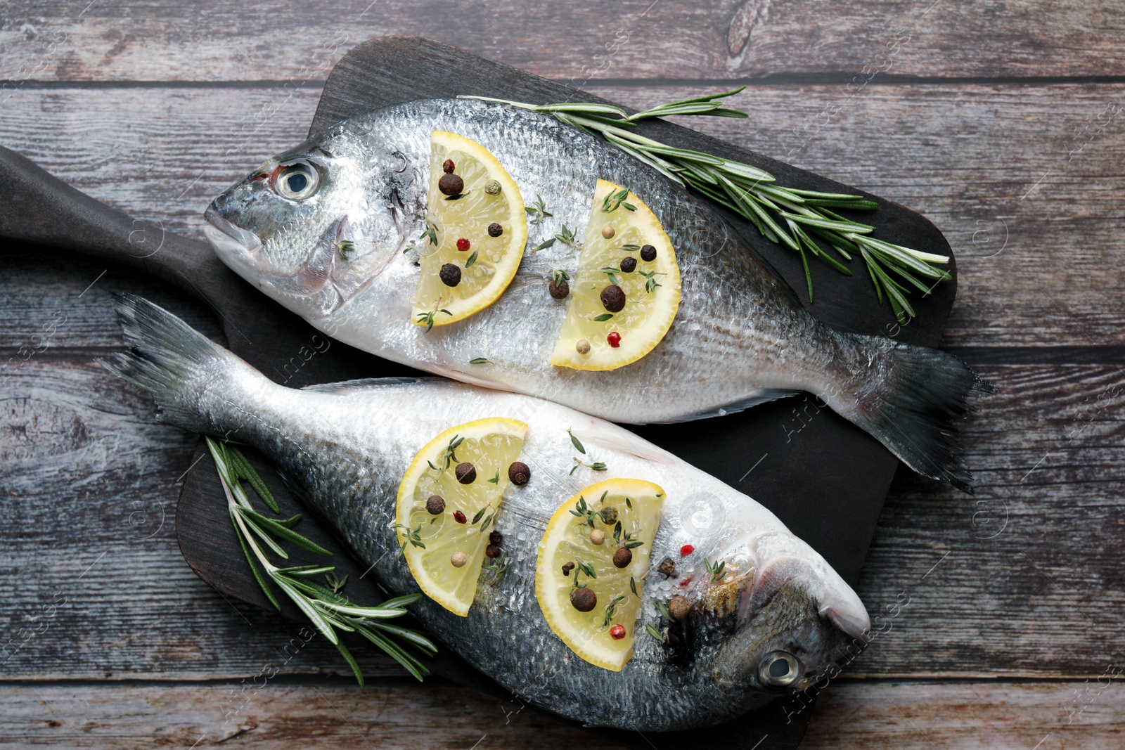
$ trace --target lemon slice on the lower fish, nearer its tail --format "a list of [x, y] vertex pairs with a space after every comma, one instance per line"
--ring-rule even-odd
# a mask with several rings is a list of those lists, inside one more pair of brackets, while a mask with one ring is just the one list
[[[488, 531], [526, 431], [526, 424], [501, 417], [450, 427], [418, 451], [398, 485], [395, 528], [406, 564], [426, 596], [462, 617], [476, 596]], [[468, 484], [457, 476], [462, 463], [475, 469]], [[431, 496], [441, 503], [430, 503]]]

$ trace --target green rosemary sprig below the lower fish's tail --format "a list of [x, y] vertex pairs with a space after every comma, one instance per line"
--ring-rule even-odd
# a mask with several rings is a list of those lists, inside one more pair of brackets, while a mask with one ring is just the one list
[[[288, 559], [289, 555], [278, 543], [279, 540], [291, 542], [324, 557], [331, 557], [332, 552], [289, 528], [300, 519], [300, 514], [291, 518], [274, 519], [254, 510], [240, 479], [245, 479], [274, 513], [278, 512], [277, 500], [273, 499], [269, 489], [266, 489], [266, 494], [259, 491], [258, 488], [264, 488], [266, 484], [238, 449], [227, 441], [219, 442], [208, 437], [207, 450], [210, 451], [212, 459], [215, 460], [219, 482], [226, 494], [227, 509], [231, 514], [231, 523], [234, 525], [235, 536], [238, 537], [238, 544], [246, 557], [246, 563], [254, 575], [254, 580], [258, 581], [270, 604], [278, 609], [281, 608], [273, 589], [270, 587], [270, 582], [272, 582], [297, 605], [297, 608], [308, 617], [317, 632], [340, 650], [340, 654], [351, 667], [360, 687], [363, 686], [363, 672], [348, 647], [340, 640], [336, 631], [362, 635], [418, 680], [429, 675], [430, 670], [426, 666], [405, 647], [412, 647], [425, 656], [438, 653], [438, 647], [422, 633], [386, 622], [405, 615], [406, 607], [421, 599], [422, 595], [399, 596], [374, 607], [364, 607], [352, 603], [340, 594], [348, 577], [344, 576], [344, 579], [340, 580], [335, 575], [334, 566], [274, 566], [262, 551], [262, 546], [269, 548], [282, 559]], [[267, 501], [267, 497], [269, 497], [269, 501]], [[322, 573], [327, 586], [310, 580], [313, 576]]]

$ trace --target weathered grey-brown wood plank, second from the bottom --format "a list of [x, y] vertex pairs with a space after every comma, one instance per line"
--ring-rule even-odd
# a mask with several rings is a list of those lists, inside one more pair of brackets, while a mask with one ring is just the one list
[[[112, 288], [99, 283], [88, 296], [108, 307]], [[965, 423], [979, 494], [900, 470], [858, 586], [881, 635], [849, 675], [1096, 677], [1117, 648], [1119, 372], [1019, 365], [982, 374], [1000, 391]], [[3, 676], [255, 674], [262, 654], [288, 640], [290, 624], [235, 612], [194, 578], [170, 517], [156, 527], [192, 439], [153, 424], [146, 397], [88, 360], [33, 359], [0, 386], [0, 406], [2, 564], [22, 581], [6, 596], [0, 632], [42, 626], [33, 616], [58, 590], [71, 602]], [[308, 653], [291, 671], [341, 667], [326, 645]], [[374, 657], [372, 669], [387, 674]]]

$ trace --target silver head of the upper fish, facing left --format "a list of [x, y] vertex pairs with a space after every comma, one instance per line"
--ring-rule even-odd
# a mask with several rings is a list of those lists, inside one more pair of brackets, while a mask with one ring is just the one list
[[336, 126], [215, 198], [205, 234], [235, 273], [315, 322], [370, 283], [405, 244], [396, 164], [400, 157], [366, 153]]

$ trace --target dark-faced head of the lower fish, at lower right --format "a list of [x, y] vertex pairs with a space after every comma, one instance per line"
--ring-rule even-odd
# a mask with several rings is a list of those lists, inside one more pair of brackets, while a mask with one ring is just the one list
[[[807, 550], [793, 554], [794, 545]], [[717, 685], [740, 688], [755, 705], [836, 677], [871, 640], [867, 612], [838, 573], [800, 540], [784, 546], [728, 584], [735, 631], [711, 671]]]

